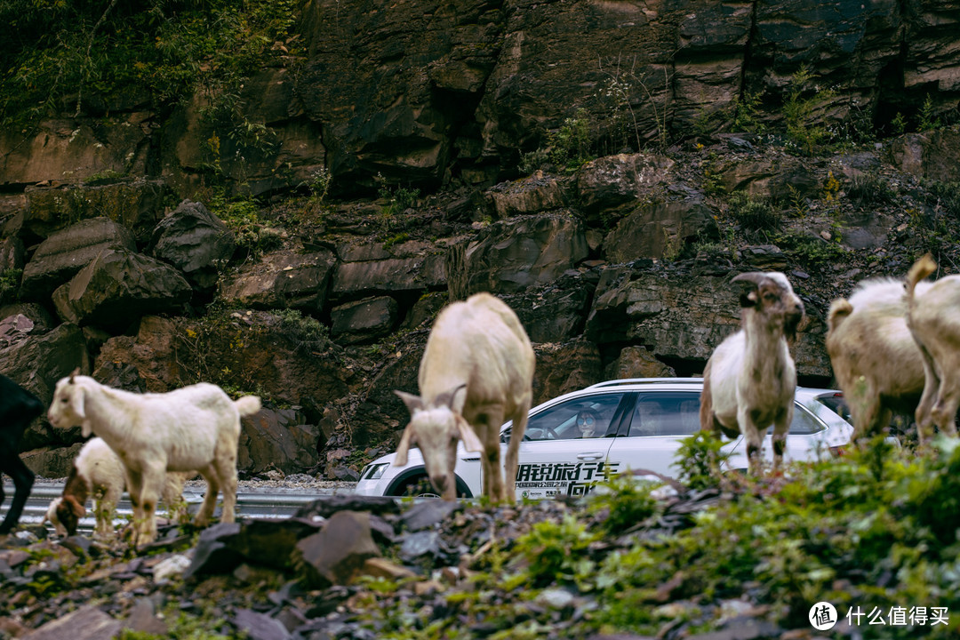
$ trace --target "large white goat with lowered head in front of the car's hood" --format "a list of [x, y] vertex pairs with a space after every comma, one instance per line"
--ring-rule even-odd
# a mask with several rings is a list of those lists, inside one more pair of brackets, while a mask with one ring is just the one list
[[[448, 305], [437, 317], [420, 360], [420, 396], [396, 391], [410, 423], [394, 464], [407, 463], [419, 445], [430, 482], [445, 500], [456, 498], [457, 442], [480, 452], [484, 494], [493, 502], [516, 499], [517, 452], [533, 399], [535, 356], [514, 311], [499, 298], [476, 294]], [[500, 469], [500, 426], [513, 419]]]

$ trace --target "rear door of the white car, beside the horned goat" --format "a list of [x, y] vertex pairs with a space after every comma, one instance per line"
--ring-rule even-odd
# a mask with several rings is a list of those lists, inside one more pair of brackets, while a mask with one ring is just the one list
[[612, 467], [675, 478], [681, 440], [700, 429], [700, 390], [639, 391], [620, 429], [608, 452]]

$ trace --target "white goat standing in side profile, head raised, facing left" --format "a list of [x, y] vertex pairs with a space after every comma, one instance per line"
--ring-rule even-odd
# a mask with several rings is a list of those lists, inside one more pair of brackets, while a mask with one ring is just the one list
[[223, 522], [233, 522], [237, 488], [240, 416], [260, 410], [260, 399], [236, 401], [216, 385], [201, 383], [167, 393], [111, 389], [72, 374], [57, 383], [47, 417], [55, 427], [81, 425], [120, 457], [133, 507], [133, 542], [156, 539], [156, 501], [167, 471], [198, 471], [206, 480], [204, 504], [194, 524], [213, 515], [224, 492]]

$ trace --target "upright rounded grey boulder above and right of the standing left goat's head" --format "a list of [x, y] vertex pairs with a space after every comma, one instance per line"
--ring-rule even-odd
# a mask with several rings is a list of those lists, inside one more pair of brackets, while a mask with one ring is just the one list
[[217, 283], [217, 265], [233, 255], [236, 236], [202, 202], [185, 200], [156, 225], [151, 245], [154, 257], [205, 289]]

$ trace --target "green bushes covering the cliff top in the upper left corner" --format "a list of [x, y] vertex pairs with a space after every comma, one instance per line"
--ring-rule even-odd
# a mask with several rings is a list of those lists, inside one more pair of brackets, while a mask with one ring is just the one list
[[0, 123], [235, 94], [270, 59], [296, 55], [295, 4], [2, 0]]

